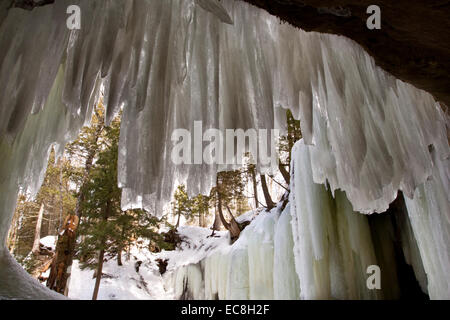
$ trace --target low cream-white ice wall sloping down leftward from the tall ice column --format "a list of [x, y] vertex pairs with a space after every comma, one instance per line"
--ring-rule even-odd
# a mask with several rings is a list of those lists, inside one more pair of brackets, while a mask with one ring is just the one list
[[[175, 270], [171, 276], [175, 297], [298, 298], [289, 209], [283, 212], [282, 219], [280, 214], [279, 208], [262, 212], [233, 245], [221, 246], [201, 261]], [[287, 259], [280, 260], [281, 256]]]

